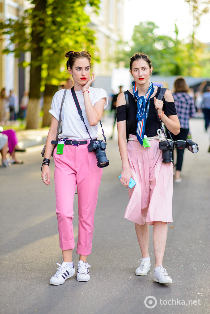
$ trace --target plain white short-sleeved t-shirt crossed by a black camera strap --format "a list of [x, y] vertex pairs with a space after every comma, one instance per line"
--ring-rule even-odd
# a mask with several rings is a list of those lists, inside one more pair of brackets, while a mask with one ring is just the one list
[[[107, 93], [102, 88], [94, 88], [89, 87], [89, 97], [92, 105], [102, 98], [106, 98], [104, 108], [108, 105]], [[85, 103], [82, 95], [82, 90], [75, 90], [77, 99], [80, 104], [80, 108], [82, 110], [82, 115], [84, 117], [85, 124], [88, 128], [89, 133], [91, 134], [91, 138], [98, 138], [98, 124], [94, 127], [91, 127], [85, 112]], [[61, 107], [61, 101], [64, 95], [64, 89], [59, 90], [55, 93], [52, 99], [52, 109], [49, 110], [52, 116], [54, 116], [57, 120], [59, 120], [59, 113]], [[63, 108], [61, 111], [61, 126], [62, 133], [59, 134], [59, 138], [69, 138], [76, 140], [88, 140], [90, 139], [88, 133], [86, 132], [86, 128], [84, 122], [81, 120], [80, 115], [77, 111], [75, 101], [71, 94], [71, 90], [67, 89], [66, 96], [64, 99]]]

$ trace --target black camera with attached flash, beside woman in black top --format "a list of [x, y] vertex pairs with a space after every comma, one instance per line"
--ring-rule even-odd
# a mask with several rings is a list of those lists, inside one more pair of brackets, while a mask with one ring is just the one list
[[193, 142], [191, 139], [187, 139], [186, 141], [172, 141], [170, 139], [166, 139], [166, 142], [159, 142], [159, 149], [162, 150], [163, 162], [173, 162], [172, 152], [175, 147], [179, 149], [187, 148], [193, 154], [197, 153], [199, 150], [198, 144]]

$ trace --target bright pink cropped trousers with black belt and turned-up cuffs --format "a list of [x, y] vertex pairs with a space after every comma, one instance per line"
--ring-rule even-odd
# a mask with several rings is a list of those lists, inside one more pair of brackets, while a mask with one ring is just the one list
[[72, 220], [74, 194], [77, 186], [79, 234], [77, 253], [91, 254], [94, 214], [97, 205], [98, 188], [101, 183], [102, 168], [97, 166], [95, 152], [88, 152], [87, 145], [64, 145], [62, 155], [56, 154], [55, 196], [60, 248], [70, 250], [75, 247]]

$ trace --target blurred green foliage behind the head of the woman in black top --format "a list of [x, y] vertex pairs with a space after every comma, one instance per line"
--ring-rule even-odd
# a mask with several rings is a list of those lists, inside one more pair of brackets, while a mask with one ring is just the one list
[[196, 41], [192, 49], [190, 43], [180, 41], [177, 25], [174, 38], [156, 35], [157, 28], [151, 21], [136, 25], [130, 45], [121, 43], [117, 62], [124, 61], [129, 67], [130, 57], [136, 52], [143, 52], [152, 60], [153, 74], [202, 76], [205, 67], [209, 68], [209, 47]]

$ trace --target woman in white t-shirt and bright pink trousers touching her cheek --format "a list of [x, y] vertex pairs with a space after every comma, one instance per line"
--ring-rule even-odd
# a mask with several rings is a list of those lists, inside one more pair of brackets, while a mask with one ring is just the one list
[[[108, 105], [107, 93], [103, 89], [90, 87], [95, 80], [91, 69], [91, 55], [86, 51], [69, 51], [66, 53], [67, 69], [74, 80], [74, 90], [82, 110], [85, 124], [92, 139], [98, 138], [97, 124], [100, 121], [103, 109]], [[52, 115], [50, 130], [45, 147], [45, 162], [41, 177], [46, 185], [50, 184], [49, 159], [54, 145], [51, 141], [56, 139], [59, 112], [64, 90], [55, 93], [52, 99]], [[58, 271], [50, 279], [54, 285], [63, 284], [65, 279], [75, 274], [72, 262], [72, 250], [75, 247], [73, 233], [73, 201], [75, 188], [78, 193], [79, 234], [77, 253], [80, 255], [77, 280], [90, 280], [87, 256], [91, 254], [94, 213], [97, 204], [98, 188], [102, 177], [102, 168], [97, 166], [95, 152], [89, 153], [87, 145], [90, 137], [85, 125], [77, 111], [71, 89], [67, 89], [61, 112], [62, 133], [59, 139], [74, 141], [64, 144], [63, 154], [57, 154], [54, 149], [55, 161], [55, 195], [56, 214], [58, 218], [58, 232], [60, 248], [63, 253], [63, 263], [58, 264]], [[70, 143], [70, 141], [68, 141]], [[45, 177], [47, 176], [47, 179]]]

